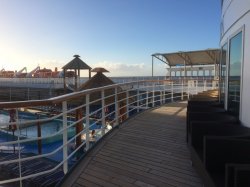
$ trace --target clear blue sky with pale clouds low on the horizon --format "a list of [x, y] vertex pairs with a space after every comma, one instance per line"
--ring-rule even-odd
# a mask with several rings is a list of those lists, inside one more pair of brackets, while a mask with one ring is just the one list
[[[61, 70], [78, 54], [107, 76], [150, 76], [154, 53], [218, 48], [219, 26], [219, 0], [0, 0], [0, 69]], [[154, 60], [154, 75], [166, 67]]]

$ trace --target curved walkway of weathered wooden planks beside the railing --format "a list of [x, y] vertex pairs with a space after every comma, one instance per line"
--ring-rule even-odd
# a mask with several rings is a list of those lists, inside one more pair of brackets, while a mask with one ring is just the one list
[[202, 186], [185, 137], [186, 103], [128, 120], [99, 143], [62, 186]]

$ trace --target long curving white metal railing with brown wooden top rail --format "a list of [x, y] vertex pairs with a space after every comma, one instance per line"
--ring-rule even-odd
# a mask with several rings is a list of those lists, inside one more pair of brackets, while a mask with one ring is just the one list
[[[192, 80], [195, 81], [195, 80]], [[192, 83], [193, 84], [193, 83]], [[205, 89], [206, 87], [206, 89]], [[122, 89], [124, 88], [124, 89]], [[45, 100], [33, 100], [33, 101], [18, 101], [18, 102], [2, 102], [0, 103], [0, 108], [2, 109], [11, 109], [15, 108], [17, 111], [19, 108], [23, 107], [34, 107], [34, 106], [54, 106], [57, 104], [57, 107], [61, 107], [60, 113], [56, 114], [52, 117], [47, 117], [43, 119], [36, 119], [36, 120], [26, 120], [26, 121], [17, 121], [11, 123], [0, 123], [0, 126], [8, 126], [8, 125], [17, 125], [18, 131], [20, 132], [20, 126], [30, 125], [53, 121], [58, 118], [62, 122], [62, 128], [55, 133], [51, 133], [50, 135], [36, 137], [36, 138], [27, 138], [27, 139], [20, 139], [20, 133], [17, 133], [18, 140], [17, 141], [6, 141], [1, 142], [1, 146], [18, 144], [18, 158], [12, 160], [4, 160], [0, 161], [0, 165], [6, 165], [10, 163], [21, 163], [23, 161], [38, 159], [38, 158], [45, 158], [51, 155], [54, 155], [58, 151], [63, 151], [63, 159], [60, 161], [54, 168], [38, 173], [33, 173], [31, 175], [23, 175], [21, 167], [19, 167], [20, 176], [0, 181], [0, 184], [5, 184], [9, 182], [20, 181], [20, 185], [22, 184], [22, 180], [44, 175], [46, 173], [53, 172], [57, 170], [59, 167], [63, 166], [63, 171], [66, 174], [68, 172], [68, 163], [69, 159], [71, 159], [79, 150], [83, 149], [85, 146], [85, 150], [88, 151], [90, 148], [90, 127], [94, 124], [90, 124], [90, 116], [94, 114], [100, 114], [100, 118], [96, 119], [96, 123], [101, 123], [101, 129], [98, 130], [101, 133], [101, 137], [105, 134], [106, 128], [106, 118], [111, 116], [111, 120], [109, 121], [110, 124], [113, 126], [119, 125], [122, 122], [123, 118], [129, 118], [131, 113], [138, 113], [141, 110], [145, 110], [150, 107], [159, 106], [166, 102], [173, 102], [176, 99], [183, 100], [184, 98], [188, 98], [189, 95], [198, 93], [200, 91], [213, 89], [212, 83], [209, 84], [208, 82], [201, 82], [198, 81], [190, 86], [188, 82], [184, 83], [173, 83], [173, 81], [164, 81], [164, 80], [144, 80], [144, 81], [134, 81], [130, 83], [121, 83], [121, 84], [114, 84], [109, 86], [104, 86], [100, 88], [88, 89], [84, 91], [78, 91], [71, 94], [66, 94], [63, 96], [58, 96], [50, 99]], [[105, 95], [105, 90], [113, 90], [109, 94]], [[90, 96], [95, 94], [96, 92], [101, 92], [101, 98], [95, 98], [95, 100], [90, 100]], [[119, 97], [118, 97], [119, 96]], [[74, 101], [72, 104], [71, 101]], [[78, 101], [78, 102], [77, 102]], [[81, 102], [79, 102], [81, 101]], [[92, 104], [99, 103], [99, 107], [93, 111], [90, 111], [90, 106]], [[121, 106], [120, 106], [121, 105]], [[105, 112], [106, 108], [113, 109], [108, 113]], [[76, 112], [77, 110], [85, 110], [85, 113], [82, 112], [82, 117], [76, 119], [74, 122], [68, 125], [67, 115]], [[121, 112], [121, 110], [123, 110]], [[17, 114], [18, 115], [18, 114]], [[18, 116], [17, 116], [18, 118]], [[73, 137], [68, 139], [68, 130], [74, 126], [79, 124], [83, 124], [85, 121], [84, 128], [78, 131]], [[107, 131], [107, 130], [106, 130]], [[30, 141], [41, 141], [45, 139], [49, 139], [58, 135], [62, 135], [63, 143], [59, 147], [53, 149], [51, 152], [21, 158], [21, 148], [20, 144], [27, 143]], [[85, 135], [85, 140], [82, 140], [81, 144], [78, 145], [71, 153], [68, 153], [68, 145], [75, 141], [79, 136]], [[100, 138], [101, 138], [100, 137]]]

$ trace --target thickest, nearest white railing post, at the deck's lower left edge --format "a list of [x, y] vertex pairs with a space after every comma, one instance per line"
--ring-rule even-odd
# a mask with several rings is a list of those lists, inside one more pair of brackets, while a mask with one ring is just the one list
[[68, 172], [68, 129], [67, 129], [67, 101], [63, 101], [62, 103], [62, 111], [63, 111], [63, 172], [66, 174]]

